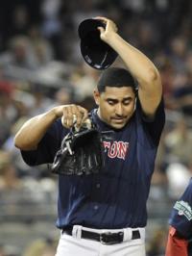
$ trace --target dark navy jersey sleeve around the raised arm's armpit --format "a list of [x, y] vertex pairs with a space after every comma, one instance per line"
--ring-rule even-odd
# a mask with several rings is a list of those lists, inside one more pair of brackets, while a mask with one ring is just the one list
[[146, 131], [146, 134], [149, 136], [149, 140], [155, 143], [155, 145], [157, 145], [160, 140], [160, 135], [165, 124], [165, 110], [163, 97], [161, 98], [161, 101], [156, 109], [156, 114], [153, 118], [149, 118], [146, 115], [144, 115], [139, 100], [137, 101], [137, 109], [142, 120], [144, 130]]

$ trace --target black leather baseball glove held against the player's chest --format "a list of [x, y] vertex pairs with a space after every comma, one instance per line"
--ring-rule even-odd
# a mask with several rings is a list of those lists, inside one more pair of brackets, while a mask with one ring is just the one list
[[104, 167], [104, 146], [101, 133], [90, 119], [77, 130], [71, 128], [61, 142], [52, 172], [61, 175], [98, 173]]

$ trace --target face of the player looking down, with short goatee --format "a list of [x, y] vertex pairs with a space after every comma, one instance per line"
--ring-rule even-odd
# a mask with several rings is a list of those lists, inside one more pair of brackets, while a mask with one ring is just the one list
[[134, 112], [135, 94], [131, 87], [111, 88], [99, 93], [94, 91], [98, 115], [115, 129], [123, 128]]

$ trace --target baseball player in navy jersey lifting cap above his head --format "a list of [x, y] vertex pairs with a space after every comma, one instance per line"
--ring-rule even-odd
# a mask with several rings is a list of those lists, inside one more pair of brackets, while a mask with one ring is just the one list
[[[165, 122], [162, 86], [156, 66], [119, 36], [113, 21], [98, 19], [105, 24], [98, 27], [100, 38], [126, 69], [103, 71], [93, 92], [98, 108], [91, 117], [100, 131], [112, 132], [112, 141], [103, 141], [105, 169], [59, 175], [56, 255], [144, 256], [146, 201]], [[14, 142], [28, 165], [53, 163], [74, 115], [81, 127], [88, 114], [79, 105], [62, 105], [21, 127]]]

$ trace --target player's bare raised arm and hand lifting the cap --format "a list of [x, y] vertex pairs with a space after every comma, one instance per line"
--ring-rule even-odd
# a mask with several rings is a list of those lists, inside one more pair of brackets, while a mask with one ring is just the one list
[[113, 21], [105, 17], [98, 18], [106, 23], [106, 29], [99, 28], [101, 38], [119, 54], [138, 83], [138, 96], [144, 113], [154, 115], [162, 95], [161, 80], [155, 64], [117, 34]]

